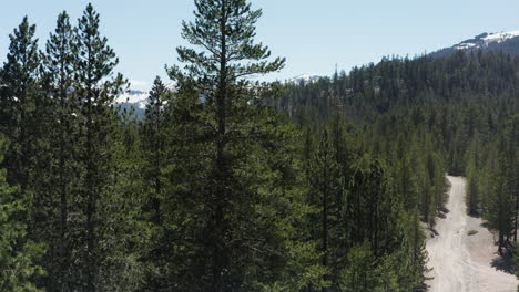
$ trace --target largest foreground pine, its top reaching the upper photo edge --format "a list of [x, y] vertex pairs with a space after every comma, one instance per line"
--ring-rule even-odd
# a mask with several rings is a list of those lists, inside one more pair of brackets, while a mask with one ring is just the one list
[[[201, 273], [199, 286], [191, 290], [271, 286], [287, 279], [279, 262], [297, 265], [294, 254], [285, 253], [294, 243], [288, 243], [276, 222], [289, 221], [286, 210], [298, 198], [291, 187], [293, 158], [285, 150], [288, 129], [262, 102], [268, 88], [246, 77], [278, 71], [284, 59], [268, 61], [268, 49], [254, 43], [262, 12], [245, 0], [197, 0], [195, 4], [195, 21], [183, 23], [183, 36], [200, 50], [179, 48], [179, 59], [186, 65], [169, 70], [181, 92], [194, 87], [194, 111], [177, 123], [191, 124], [191, 129], [177, 138], [191, 152], [200, 152], [187, 155], [203, 164], [196, 175], [184, 177], [189, 186], [184, 191], [193, 192], [189, 206], [207, 213], [190, 216], [196, 218], [192, 228], [201, 223], [196, 228], [205, 230], [190, 247], [200, 267], [189, 273]], [[180, 167], [190, 169], [193, 164]]]

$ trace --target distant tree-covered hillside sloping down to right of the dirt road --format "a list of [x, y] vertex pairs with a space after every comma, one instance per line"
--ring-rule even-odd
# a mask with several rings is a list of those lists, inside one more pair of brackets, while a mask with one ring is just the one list
[[383, 156], [396, 140], [409, 144], [414, 136], [428, 136], [429, 148], [418, 148], [436, 152], [449, 174], [469, 177], [469, 212], [484, 215], [510, 239], [517, 233], [519, 198], [518, 67], [516, 56], [481, 51], [385, 59], [349, 75], [292, 85], [274, 105], [303, 126], [327, 123], [340, 108], [369, 137], [367, 148]]

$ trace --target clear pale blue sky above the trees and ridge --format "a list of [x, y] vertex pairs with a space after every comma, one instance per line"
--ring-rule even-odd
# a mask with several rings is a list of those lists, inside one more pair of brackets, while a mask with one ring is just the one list
[[[54, 29], [59, 12], [81, 15], [85, 0], [2, 1], [0, 63], [8, 34], [22, 17], [38, 25], [40, 45]], [[147, 90], [164, 64], [176, 63], [175, 48], [184, 44], [181, 21], [193, 19], [193, 0], [92, 0], [101, 13], [102, 32], [120, 56], [118, 71]], [[287, 65], [269, 79], [299, 74], [330, 75], [337, 64], [377, 62], [385, 55], [435, 51], [481, 32], [519, 30], [518, 0], [252, 0], [262, 8], [257, 40]]]

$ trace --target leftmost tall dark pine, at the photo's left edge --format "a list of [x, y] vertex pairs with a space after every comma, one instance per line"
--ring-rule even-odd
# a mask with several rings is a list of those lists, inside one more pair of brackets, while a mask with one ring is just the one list
[[[1, 72], [3, 82], [0, 112], [3, 113], [2, 132], [10, 139], [6, 160], [9, 185], [19, 187], [17, 199], [22, 200], [23, 211], [18, 220], [27, 227], [27, 239], [45, 242], [41, 222], [48, 213], [43, 189], [49, 187], [49, 129], [50, 98], [42, 94], [35, 25], [23, 18], [10, 35], [7, 62]], [[35, 264], [39, 264], [37, 262]]]

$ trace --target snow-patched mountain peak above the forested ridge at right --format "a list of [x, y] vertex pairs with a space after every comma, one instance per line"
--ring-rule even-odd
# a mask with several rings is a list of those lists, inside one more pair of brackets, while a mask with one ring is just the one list
[[465, 40], [450, 48], [445, 48], [431, 53], [431, 56], [441, 58], [451, 55], [456, 51], [491, 51], [519, 55], [519, 31], [498, 32], [498, 33], [481, 33], [474, 39]]

